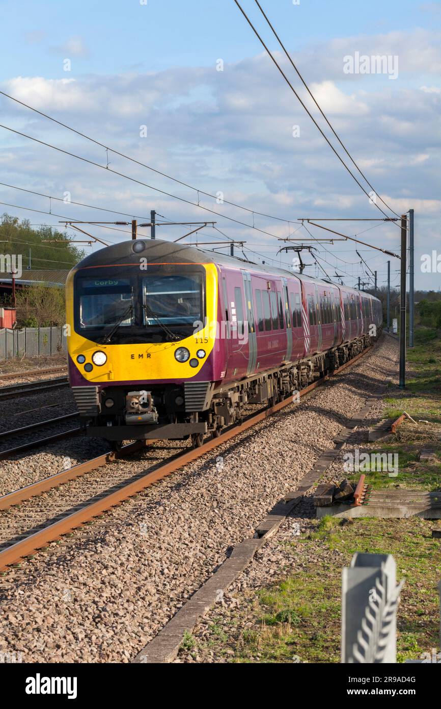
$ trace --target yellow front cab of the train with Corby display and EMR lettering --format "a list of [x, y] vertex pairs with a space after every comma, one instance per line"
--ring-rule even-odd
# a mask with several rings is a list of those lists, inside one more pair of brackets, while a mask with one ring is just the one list
[[[161, 264], [149, 264], [147, 276], [139, 273], [139, 263], [84, 269], [80, 264], [69, 275], [69, 380], [81, 419], [88, 423], [88, 435], [120, 442], [182, 438], [207, 431], [207, 422], [198, 420], [197, 412], [204, 409], [224, 358], [224, 340], [213, 327], [217, 323], [217, 267], [211, 263], [178, 265], [180, 273], [185, 274], [186, 268], [188, 273], [202, 274], [194, 282], [200, 283], [203, 303], [202, 309], [184, 318], [185, 323], [188, 320], [185, 328], [176, 318], [173, 322], [165, 315], [161, 318], [168, 323], [168, 332], [175, 328], [178, 333], [178, 339], [170, 339], [154, 313], [161, 308], [165, 313], [173, 298], [184, 301], [188, 294], [178, 297], [181, 286], [176, 285], [176, 269], [172, 264], [166, 266], [161, 270]], [[173, 287], [165, 294], [172, 281]], [[147, 307], [142, 300], [146, 293], [150, 294]], [[107, 316], [103, 308], [114, 309], [116, 301], [120, 316], [115, 318], [113, 311]], [[115, 329], [106, 318], [110, 323], [120, 319], [123, 324]], [[200, 321], [197, 332], [195, 320]]]

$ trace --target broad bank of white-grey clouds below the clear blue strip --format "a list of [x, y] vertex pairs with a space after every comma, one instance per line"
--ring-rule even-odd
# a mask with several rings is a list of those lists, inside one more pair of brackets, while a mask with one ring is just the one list
[[[322, 46], [320, 52], [306, 47], [301, 57], [293, 55], [301, 71], [302, 67], [308, 67], [308, 75], [305, 71], [302, 73], [310, 82], [311, 91], [374, 189], [399, 214], [415, 208], [416, 217], [425, 220], [424, 234], [436, 233], [441, 211], [437, 169], [441, 153], [440, 89], [432, 86], [428, 79], [428, 75], [441, 66], [436, 40], [435, 33], [418, 30], [413, 34], [345, 38]], [[343, 75], [345, 54], [360, 50], [370, 55], [384, 53], [388, 48], [392, 53], [399, 53], [397, 82], [384, 82], [383, 77]], [[420, 50], [422, 58], [418, 60], [418, 67], [413, 67], [414, 54]], [[418, 82], [415, 71], [422, 72]], [[408, 77], [411, 82], [407, 81]], [[224, 72], [216, 72], [212, 67], [193, 67], [116, 76], [76, 74], [76, 78], [65, 79], [14, 77], [4, 82], [2, 88], [105, 145], [212, 194], [223, 191], [225, 199], [260, 212], [292, 222], [299, 216], [370, 217], [377, 214], [265, 55], [225, 65]], [[311, 99], [306, 98], [326, 135], [362, 182]], [[3, 98], [0, 101], [2, 112], [8, 117], [4, 123], [19, 130], [23, 130], [22, 126], [28, 128], [23, 132], [30, 135], [36, 135], [35, 125], [38, 125], [38, 138], [105, 165], [106, 156], [101, 147], [55, 128], [50, 121], [11, 101]], [[147, 138], [139, 136], [139, 126], [143, 124], [148, 128]], [[300, 126], [299, 138], [292, 135], [293, 125]], [[57, 130], [56, 136], [52, 135], [54, 130]], [[13, 140], [13, 150], [6, 142], [2, 172], [8, 179], [4, 182], [59, 196], [69, 190], [74, 201], [140, 216], [148, 217], [149, 210], [156, 208], [176, 221], [214, 219], [228, 235], [248, 240], [251, 247], [256, 242], [263, 245], [263, 250], [277, 247], [274, 239], [225, 221], [221, 216], [210, 216], [197, 206], [174, 201], [24, 139], [9, 136], [7, 140]], [[112, 169], [197, 202], [195, 191], [183, 185], [118, 155], [110, 153], [109, 160]], [[370, 191], [368, 186], [367, 191]], [[48, 206], [47, 200], [36, 196], [20, 195], [19, 201], [15, 191], [4, 188], [1, 195], [1, 201], [42, 210]], [[200, 203], [247, 224], [253, 223], [249, 213], [217, 205], [205, 196], [200, 195]], [[97, 216], [100, 213], [91, 209], [64, 204], [59, 205], [57, 213], [88, 220], [93, 216], [112, 218], [105, 213]], [[256, 226], [274, 235], [284, 237], [287, 233], [287, 225], [283, 223], [259, 216], [255, 220]], [[345, 232], [343, 225], [336, 226], [336, 230]], [[181, 235], [178, 228], [158, 231], [170, 238], [175, 233], [176, 238]], [[317, 237], [320, 236], [318, 231], [315, 231]], [[209, 233], [205, 230], [204, 236]], [[347, 233], [355, 233], [355, 225], [352, 229], [348, 226]], [[399, 229], [391, 230], [389, 225], [387, 233], [380, 225], [367, 232], [365, 238], [377, 245], [382, 245], [387, 238], [392, 250], [397, 250]], [[109, 235], [115, 240], [118, 238], [118, 233]], [[350, 247], [345, 245], [345, 248]], [[353, 260], [350, 254], [345, 257]]]

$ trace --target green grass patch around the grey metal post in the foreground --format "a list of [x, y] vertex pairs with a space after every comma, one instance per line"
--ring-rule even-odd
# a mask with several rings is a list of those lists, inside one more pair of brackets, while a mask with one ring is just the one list
[[438, 648], [441, 547], [431, 537], [433, 524], [419, 518], [317, 521], [309, 535], [285, 544], [293, 562], [299, 556], [311, 562], [299, 574], [257, 591], [255, 627], [237, 637], [231, 660], [339, 662], [341, 569], [355, 552], [393, 554], [397, 580], [406, 578], [397, 622], [398, 661]]

